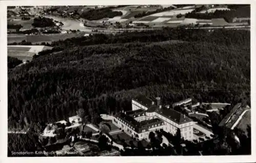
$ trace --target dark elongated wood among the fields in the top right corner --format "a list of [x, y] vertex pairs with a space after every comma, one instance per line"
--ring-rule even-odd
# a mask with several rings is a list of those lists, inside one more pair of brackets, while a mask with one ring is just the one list
[[233, 18], [240, 17], [250, 17], [250, 7], [240, 7], [235, 10], [216, 10], [215, 12], [209, 13], [196, 13], [190, 12], [185, 14], [185, 18], [195, 18], [195, 19], [214, 19], [214, 18], [224, 18], [227, 22], [232, 22]]

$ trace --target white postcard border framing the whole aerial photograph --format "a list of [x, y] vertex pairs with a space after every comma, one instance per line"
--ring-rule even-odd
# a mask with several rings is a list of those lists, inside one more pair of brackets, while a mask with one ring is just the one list
[[[251, 4], [251, 155], [247, 156], [138, 156], [138, 157], [7, 157], [7, 6], [75, 6], [75, 5], [145, 5], [145, 4]], [[56, 161], [65, 161], [65, 162], [255, 162], [255, 2], [254, 1], [209, 1], [209, 0], [175, 0], [175, 1], [164, 1], [164, 0], [130, 0], [130, 1], [118, 1], [118, 0], [88, 0], [88, 1], [76, 1], [76, 0], [34, 0], [34, 1], [0, 1], [0, 109], [1, 109], [1, 137], [0, 137], [0, 148], [1, 148], [1, 160], [0, 162], [56, 162]], [[209, 147], [211, 148], [211, 147]], [[65, 158], [65, 159], [63, 159]], [[60, 160], [61, 159], [61, 160]]]

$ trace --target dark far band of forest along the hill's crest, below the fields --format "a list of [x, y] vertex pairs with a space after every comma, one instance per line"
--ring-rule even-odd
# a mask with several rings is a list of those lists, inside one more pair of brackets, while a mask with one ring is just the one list
[[[232, 38], [232, 39], [231, 39]], [[168, 40], [211, 42], [220, 45], [250, 45], [250, 31], [224, 30], [214, 32], [195, 29], [170, 29], [142, 32], [124, 32], [116, 35], [94, 34], [89, 37], [70, 38], [52, 42], [52, 46], [75, 47], [94, 44], [113, 44], [128, 42], [159, 42]]]

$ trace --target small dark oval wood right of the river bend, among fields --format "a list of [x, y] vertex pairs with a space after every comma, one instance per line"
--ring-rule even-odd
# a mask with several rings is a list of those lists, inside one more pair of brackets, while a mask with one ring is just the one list
[[87, 20], [99, 20], [102, 18], [113, 18], [115, 16], [122, 16], [120, 11], [112, 11], [110, 8], [101, 8], [101, 9], [91, 9], [89, 11], [83, 12], [81, 18]]

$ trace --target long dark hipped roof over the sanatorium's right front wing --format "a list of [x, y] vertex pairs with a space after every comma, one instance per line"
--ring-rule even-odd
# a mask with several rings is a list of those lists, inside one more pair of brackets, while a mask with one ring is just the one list
[[160, 110], [157, 110], [157, 113], [161, 114], [162, 116], [164, 116], [178, 124], [187, 123], [187, 122], [192, 121], [187, 116], [184, 116], [183, 114], [181, 114], [173, 109], [166, 108], [166, 107], [162, 107]]

